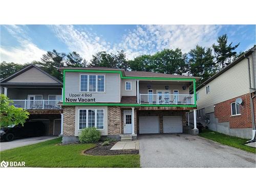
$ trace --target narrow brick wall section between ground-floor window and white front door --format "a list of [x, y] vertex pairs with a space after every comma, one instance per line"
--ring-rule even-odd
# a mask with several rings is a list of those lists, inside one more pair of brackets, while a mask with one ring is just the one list
[[121, 109], [119, 106], [108, 107], [108, 135], [119, 135], [121, 126]]

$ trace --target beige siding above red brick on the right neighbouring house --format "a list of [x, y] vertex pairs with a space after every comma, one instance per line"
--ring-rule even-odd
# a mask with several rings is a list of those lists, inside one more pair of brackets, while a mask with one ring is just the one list
[[[206, 86], [210, 93], [206, 94]], [[214, 112], [216, 103], [249, 93], [247, 59], [243, 59], [214, 80], [210, 81], [199, 92], [198, 109], [205, 108], [205, 113]]]

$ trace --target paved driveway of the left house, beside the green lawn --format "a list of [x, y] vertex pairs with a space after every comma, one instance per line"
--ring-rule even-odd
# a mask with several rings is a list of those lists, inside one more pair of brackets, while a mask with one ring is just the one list
[[43, 141], [55, 139], [57, 136], [42, 136], [42, 137], [30, 137], [25, 139], [16, 139], [10, 142], [1, 141], [0, 151], [9, 150], [10, 148], [16, 148], [19, 146], [31, 145], [35, 143], [40, 143]]

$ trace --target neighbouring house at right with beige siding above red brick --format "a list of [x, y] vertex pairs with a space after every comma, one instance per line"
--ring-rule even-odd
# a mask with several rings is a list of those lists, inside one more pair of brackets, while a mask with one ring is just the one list
[[[256, 119], [255, 84], [254, 46], [197, 87], [197, 121], [213, 131], [252, 138]], [[190, 124], [193, 116], [189, 113]]]

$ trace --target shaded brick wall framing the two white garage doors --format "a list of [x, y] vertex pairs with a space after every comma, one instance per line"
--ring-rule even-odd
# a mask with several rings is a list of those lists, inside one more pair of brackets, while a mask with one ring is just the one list
[[185, 113], [183, 110], [165, 110], [165, 111], [137, 111], [137, 133], [139, 133], [139, 116], [158, 116], [160, 133], [163, 133], [163, 116], [182, 116], [182, 125], [186, 126]]

